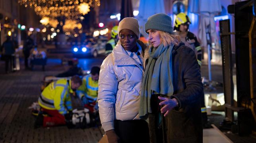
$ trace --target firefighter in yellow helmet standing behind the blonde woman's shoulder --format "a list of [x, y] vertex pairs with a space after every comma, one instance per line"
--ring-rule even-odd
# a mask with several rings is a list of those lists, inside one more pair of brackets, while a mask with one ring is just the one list
[[[186, 46], [192, 48], [196, 53], [196, 58], [199, 64], [199, 68], [202, 65], [202, 49], [200, 43], [197, 41], [196, 36], [188, 31], [189, 24], [191, 24], [190, 18], [185, 13], [178, 13], [175, 19], [176, 33], [180, 36], [180, 40], [185, 43]], [[202, 112], [202, 121], [204, 128], [208, 127], [208, 118], [206, 113], [206, 106], [204, 103], [204, 95], [201, 98], [201, 112]]]

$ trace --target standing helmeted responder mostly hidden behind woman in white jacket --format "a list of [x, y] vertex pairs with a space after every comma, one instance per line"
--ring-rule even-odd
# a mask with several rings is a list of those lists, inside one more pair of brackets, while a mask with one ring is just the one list
[[111, 30], [111, 39], [107, 41], [106, 43], [106, 51], [105, 55], [108, 56], [110, 53], [112, 53], [112, 50], [116, 46], [116, 43], [118, 42], [118, 32], [117, 32], [118, 26], [114, 26]]

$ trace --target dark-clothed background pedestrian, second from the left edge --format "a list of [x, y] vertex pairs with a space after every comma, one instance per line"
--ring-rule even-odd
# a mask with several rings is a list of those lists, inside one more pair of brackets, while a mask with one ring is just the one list
[[28, 36], [25, 40], [24, 46], [23, 46], [23, 54], [24, 54], [24, 60], [25, 60], [25, 69], [28, 70], [28, 58], [30, 55], [31, 49], [34, 48], [34, 40], [31, 38], [31, 36]]

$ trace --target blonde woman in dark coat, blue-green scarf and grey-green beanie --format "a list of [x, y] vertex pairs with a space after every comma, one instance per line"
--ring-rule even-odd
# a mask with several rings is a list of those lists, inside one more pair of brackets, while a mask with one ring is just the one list
[[194, 51], [173, 33], [171, 17], [150, 16], [140, 117], [148, 119], [152, 143], [202, 143], [201, 75]]

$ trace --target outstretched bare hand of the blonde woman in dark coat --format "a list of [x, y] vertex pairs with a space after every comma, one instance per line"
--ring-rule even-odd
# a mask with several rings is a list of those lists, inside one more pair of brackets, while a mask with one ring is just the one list
[[163, 100], [162, 102], [159, 103], [159, 105], [164, 105], [161, 108], [161, 113], [165, 113], [164, 117], [173, 109], [174, 107], [177, 106], [177, 100], [175, 98], [169, 99], [165, 97], [158, 96], [159, 100]]

